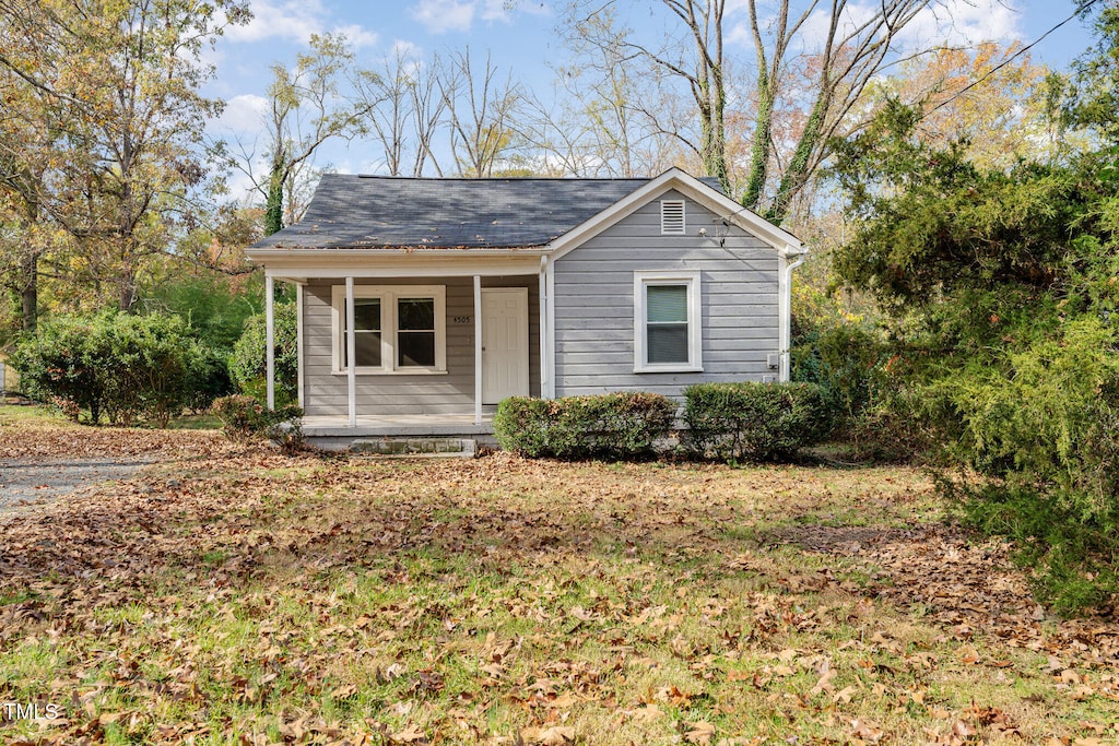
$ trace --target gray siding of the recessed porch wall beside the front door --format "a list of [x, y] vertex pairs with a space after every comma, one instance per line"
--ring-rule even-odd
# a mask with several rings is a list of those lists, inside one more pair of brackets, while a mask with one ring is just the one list
[[[346, 416], [348, 383], [331, 370], [331, 286], [337, 280], [312, 280], [303, 289], [303, 409], [308, 416]], [[357, 376], [357, 414], [451, 415], [474, 410], [474, 291], [471, 277], [356, 281], [368, 285], [444, 285], [446, 287], [446, 374], [370, 374]], [[482, 277], [482, 287], [528, 287], [529, 391], [539, 396], [539, 285], [529, 277]], [[469, 323], [454, 323], [469, 317]], [[492, 407], [487, 407], [492, 410]]]

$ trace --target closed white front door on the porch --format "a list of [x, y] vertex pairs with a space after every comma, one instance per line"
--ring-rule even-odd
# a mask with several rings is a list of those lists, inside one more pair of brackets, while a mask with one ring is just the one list
[[528, 396], [528, 289], [482, 289], [482, 404]]

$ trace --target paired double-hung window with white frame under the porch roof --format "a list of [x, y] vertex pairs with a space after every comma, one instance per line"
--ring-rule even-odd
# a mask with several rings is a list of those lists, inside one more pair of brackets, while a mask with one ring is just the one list
[[[335, 372], [349, 369], [346, 287], [331, 291]], [[358, 374], [446, 372], [443, 285], [356, 285], [354, 359]]]

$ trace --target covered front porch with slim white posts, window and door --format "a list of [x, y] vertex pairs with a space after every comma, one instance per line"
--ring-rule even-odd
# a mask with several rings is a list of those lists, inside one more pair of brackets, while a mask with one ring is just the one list
[[299, 404], [312, 442], [345, 447], [363, 438], [462, 437], [489, 444], [498, 402], [546, 395], [546, 262], [408, 257], [389, 265], [375, 258], [304, 275], [266, 274], [270, 405], [272, 285], [290, 282]]

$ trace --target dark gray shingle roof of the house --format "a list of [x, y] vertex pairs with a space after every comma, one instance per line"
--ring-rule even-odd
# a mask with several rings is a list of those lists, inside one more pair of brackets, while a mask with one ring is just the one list
[[[649, 179], [323, 174], [303, 219], [253, 248], [543, 246]], [[716, 179], [703, 179], [720, 189]]]

